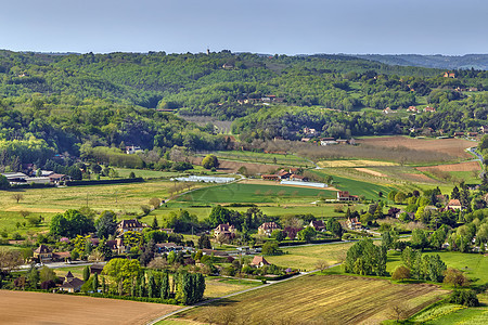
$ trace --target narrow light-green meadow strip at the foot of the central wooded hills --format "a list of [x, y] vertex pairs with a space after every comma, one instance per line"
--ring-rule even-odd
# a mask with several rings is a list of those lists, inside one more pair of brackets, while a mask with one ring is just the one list
[[259, 162], [259, 164], [274, 164], [274, 165], [286, 165], [290, 167], [311, 167], [312, 164], [307, 159], [288, 154], [265, 154], [265, 153], [254, 153], [254, 152], [216, 152], [215, 155], [218, 158], [224, 158], [226, 160], [236, 160], [246, 162]]

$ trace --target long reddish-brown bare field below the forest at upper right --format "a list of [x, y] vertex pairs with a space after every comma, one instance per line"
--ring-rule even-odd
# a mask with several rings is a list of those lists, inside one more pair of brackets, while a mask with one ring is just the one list
[[413, 139], [407, 136], [382, 136], [359, 139], [356, 141], [360, 144], [381, 147], [407, 147], [415, 151], [438, 152], [449, 156], [459, 158], [468, 158], [471, 155], [465, 152], [466, 148], [475, 146], [476, 143], [463, 139]]

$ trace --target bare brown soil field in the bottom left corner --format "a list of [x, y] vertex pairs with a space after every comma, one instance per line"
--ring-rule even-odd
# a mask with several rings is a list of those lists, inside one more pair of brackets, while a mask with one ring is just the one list
[[163, 303], [0, 290], [2, 324], [146, 324], [180, 308]]

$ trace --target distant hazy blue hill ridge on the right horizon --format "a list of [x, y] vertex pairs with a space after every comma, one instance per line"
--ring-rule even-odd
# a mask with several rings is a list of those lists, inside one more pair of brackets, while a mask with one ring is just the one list
[[488, 54], [421, 55], [421, 54], [355, 54], [354, 57], [389, 65], [419, 66], [441, 69], [488, 69]]

